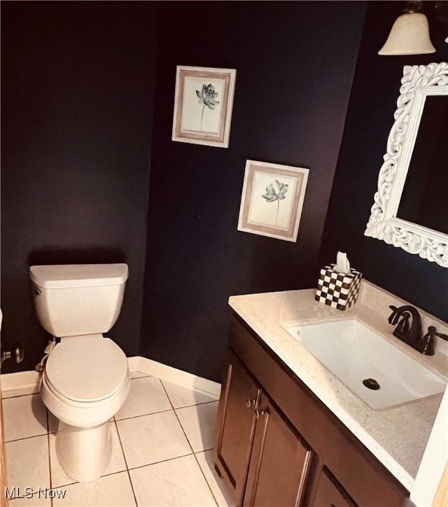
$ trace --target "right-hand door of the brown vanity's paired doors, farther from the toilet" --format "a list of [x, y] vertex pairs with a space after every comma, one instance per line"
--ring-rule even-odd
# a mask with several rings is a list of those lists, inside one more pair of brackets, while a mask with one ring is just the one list
[[257, 425], [244, 506], [298, 506], [312, 451], [266, 394], [255, 410]]

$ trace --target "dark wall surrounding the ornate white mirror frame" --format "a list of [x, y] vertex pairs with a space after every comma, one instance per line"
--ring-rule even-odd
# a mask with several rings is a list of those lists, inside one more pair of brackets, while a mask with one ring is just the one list
[[[434, 4], [434, 2], [428, 2]], [[399, 95], [402, 67], [448, 61], [446, 25], [432, 22], [432, 55], [379, 56], [402, 2], [370, 2], [322, 240], [321, 264], [346, 251], [366, 279], [448, 320], [448, 269], [365, 237], [379, 167]], [[448, 169], [448, 167], [447, 167]], [[447, 180], [448, 186], [448, 172]], [[446, 207], [447, 202], [438, 202]]]

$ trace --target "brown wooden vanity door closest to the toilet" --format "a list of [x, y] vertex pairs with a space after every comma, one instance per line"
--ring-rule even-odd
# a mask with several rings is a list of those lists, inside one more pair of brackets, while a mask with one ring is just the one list
[[218, 473], [241, 505], [255, 431], [261, 389], [237, 356], [229, 352], [227, 375], [218, 407], [214, 460]]

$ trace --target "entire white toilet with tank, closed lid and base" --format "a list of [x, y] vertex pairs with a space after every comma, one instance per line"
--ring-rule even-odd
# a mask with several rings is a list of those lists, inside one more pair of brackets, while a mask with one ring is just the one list
[[112, 453], [109, 419], [130, 389], [125, 353], [103, 336], [120, 314], [127, 275], [126, 264], [29, 268], [38, 320], [60, 339], [41, 375], [41, 398], [58, 419], [59, 462], [79, 482], [106, 471]]

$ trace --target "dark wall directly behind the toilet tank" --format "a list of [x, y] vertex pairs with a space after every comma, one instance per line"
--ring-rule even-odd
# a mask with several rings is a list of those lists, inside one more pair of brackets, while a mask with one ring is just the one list
[[109, 335], [139, 354], [156, 9], [1, 4], [1, 345], [25, 346], [17, 369], [33, 369], [50, 338], [31, 298], [37, 263], [128, 263]]

